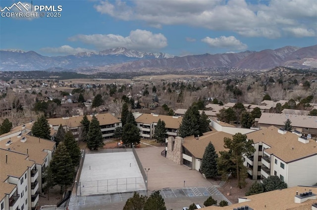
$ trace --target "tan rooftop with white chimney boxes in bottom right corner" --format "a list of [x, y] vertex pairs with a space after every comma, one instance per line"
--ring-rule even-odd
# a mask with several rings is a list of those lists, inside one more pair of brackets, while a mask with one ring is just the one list
[[317, 187], [296, 186], [238, 198], [226, 207], [210, 206], [202, 210], [317, 210]]

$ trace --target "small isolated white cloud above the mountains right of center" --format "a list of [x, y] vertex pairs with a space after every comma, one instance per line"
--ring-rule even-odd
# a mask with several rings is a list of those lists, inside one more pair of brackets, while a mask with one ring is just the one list
[[244, 50], [248, 48], [246, 44], [240, 42], [233, 36], [230, 36], [230, 37], [221, 36], [218, 38], [206, 37], [202, 39], [202, 42], [207, 43], [211, 47], [217, 47], [217, 48], [227, 48], [227, 49], [237, 49], [237, 50]]

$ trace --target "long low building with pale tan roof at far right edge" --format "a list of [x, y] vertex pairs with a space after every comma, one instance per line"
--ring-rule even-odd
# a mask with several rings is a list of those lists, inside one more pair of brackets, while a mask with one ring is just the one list
[[317, 116], [262, 113], [258, 124], [260, 128], [268, 126], [282, 127], [287, 119], [292, 122], [294, 130], [303, 134], [317, 134]]

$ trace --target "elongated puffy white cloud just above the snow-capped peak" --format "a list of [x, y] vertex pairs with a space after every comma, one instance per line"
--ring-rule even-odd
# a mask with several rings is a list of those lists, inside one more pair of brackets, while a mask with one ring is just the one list
[[92, 44], [100, 50], [124, 46], [135, 50], [151, 51], [167, 46], [167, 39], [164, 35], [140, 29], [131, 31], [127, 37], [114, 34], [93, 34], [76, 35], [70, 37], [69, 40]]

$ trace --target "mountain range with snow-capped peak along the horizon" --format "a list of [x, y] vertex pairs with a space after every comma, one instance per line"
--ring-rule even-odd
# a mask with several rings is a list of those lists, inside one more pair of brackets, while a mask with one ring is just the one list
[[270, 69], [276, 66], [294, 68], [317, 67], [317, 45], [285, 46], [262, 51], [188, 55], [139, 52], [118, 47], [100, 52], [81, 52], [66, 56], [43, 56], [34, 51], [0, 50], [0, 71], [189, 71], [208, 68]]

